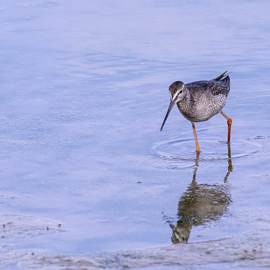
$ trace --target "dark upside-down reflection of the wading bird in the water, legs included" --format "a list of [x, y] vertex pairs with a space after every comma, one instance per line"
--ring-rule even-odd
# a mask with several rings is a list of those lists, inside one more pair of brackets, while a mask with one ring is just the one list
[[228, 172], [222, 184], [197, 184], [198, 155], [195, 160], [192, 182], [178, 203], [177, 225], [170, 224], [173, 231], [171, 237], [173, 244], [187, 243], [193, 226], [217, 221], [227, 211], [231, 202], [230, 187], [227, 183], [228, 176], [232, 172], [230, 143], [228, 143]]

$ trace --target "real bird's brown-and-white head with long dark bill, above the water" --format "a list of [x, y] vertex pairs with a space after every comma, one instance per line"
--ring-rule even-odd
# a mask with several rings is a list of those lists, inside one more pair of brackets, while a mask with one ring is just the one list
[[171, 112], [171, 109], [173, 109], [174, 104], [185, 98], [185, 96], [187, 95], [188, 89], [183, 82], [176, 81], [170, 85], [169, 92], [171, 95], [171, 102], [170, 102], [168, 111], [166, 113], [166, 116], [164, 118], [160, 131], [163, 129], [163, 126], [168, 118], [168, 115]]

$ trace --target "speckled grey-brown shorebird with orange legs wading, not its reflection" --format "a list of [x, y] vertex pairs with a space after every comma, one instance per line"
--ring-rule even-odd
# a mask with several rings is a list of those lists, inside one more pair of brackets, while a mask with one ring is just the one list
[[163, 129], [171, 109], [177, 104], [180, 113], [192, 124], [197, 153], [201, 150], [197, 140], [195, 122], [207, 121], [218, 113], [221, 113], [227, 119], [229, 143], [232, 119], [222, 112], [230, 92], [230, 77], [228, 74], [231, 72], [227, 75], [226, 73], [227, 71], [209, 81], [197, 81], [187, 84], [181, 81], [172, 83], [169, 87], [171, 102], [160, 131]]

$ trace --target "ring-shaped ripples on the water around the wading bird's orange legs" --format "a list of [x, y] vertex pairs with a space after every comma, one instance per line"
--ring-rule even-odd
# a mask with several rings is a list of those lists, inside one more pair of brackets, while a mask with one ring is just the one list
[[233, 163], [247, 163], [262, 156], [263, 147], [252, 140], [234, 140], [228, 146], [216, 137], [204, 137], [200, 141], [201, 153], [196, 155], [195, 141], [191, 139], [170, 139], [152, 147], [151, 163], [158, 169], [184, 170], [194, 166], [208, 167], [212, 162], [231, 159]]

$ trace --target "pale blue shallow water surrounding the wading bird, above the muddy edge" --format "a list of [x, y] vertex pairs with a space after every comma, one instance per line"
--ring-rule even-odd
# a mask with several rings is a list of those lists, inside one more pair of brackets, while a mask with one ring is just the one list
[[[0, 229], [4, 269], [38, 269], [35, 256], [19, 263], [25, 249], [49, 260], [170, 247], [170, 225], [183, 215], [190, 244], [242, 239], [245, 250], [257, 235], [269, 247], [269, 8], [263, 1], [2, 2], [0, 220], [15, 224], [19, 216], [16, 231], [27, 232]], [[226, 70], [230, 149], [220, 114], [196, 123], [197, 159], [191, 123], [177, 108], [160, 132], [168, 86]], [[194, 196], [201, 203], [183, 210]], [[222, 267], [242, 269], [239, 258], [228, 254]], [[215, 268], [198, 264], [190, 258], [192, 269]], [[174, 262], [166, 265], [153, 269]], [[133, 265], [146, 266], [149, 259]]]

